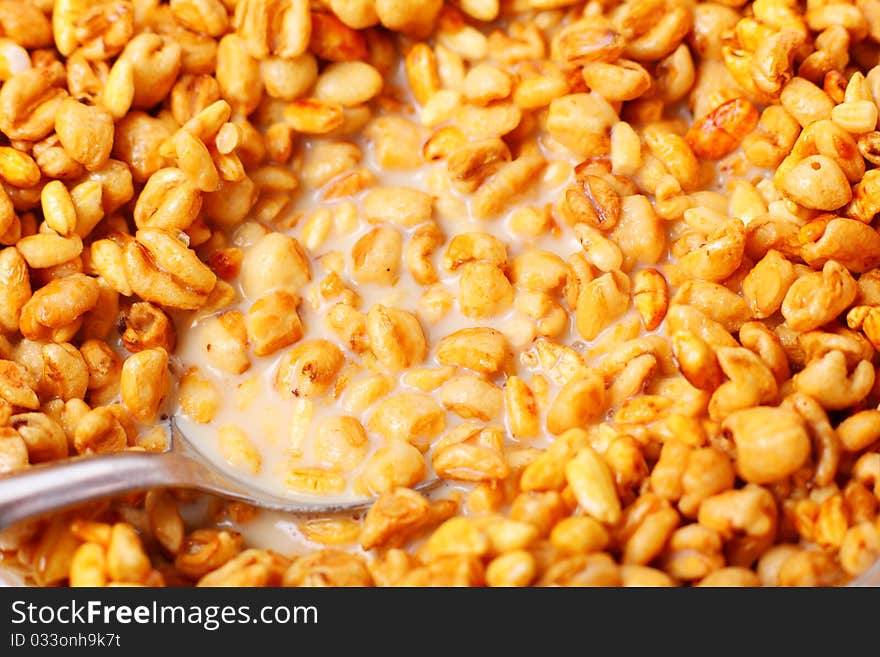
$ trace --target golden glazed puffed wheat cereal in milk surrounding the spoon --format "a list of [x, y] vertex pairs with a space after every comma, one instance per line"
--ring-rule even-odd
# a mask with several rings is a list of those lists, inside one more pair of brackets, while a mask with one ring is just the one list
[[0, 473], [162, 450], [173, 414], [276, 494], [376, 498], [154, 490], [0, 567], [858, 578], [878, 64], [880, 0], [0, 0]]

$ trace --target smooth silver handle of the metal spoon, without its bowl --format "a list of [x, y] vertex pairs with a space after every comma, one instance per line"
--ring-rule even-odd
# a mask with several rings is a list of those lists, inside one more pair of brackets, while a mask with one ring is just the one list
[[84, 502], [162, 486], [186, 486], [190, 459], [116, 452], [35, 465], [0, 476], [0, 530]]

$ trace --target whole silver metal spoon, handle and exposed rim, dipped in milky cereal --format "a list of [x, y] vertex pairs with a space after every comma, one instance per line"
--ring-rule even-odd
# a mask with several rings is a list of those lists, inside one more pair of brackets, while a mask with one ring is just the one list
[[[189, 488], [266, 509], [296, 514], [354, 512], [373, 499], [328, 500], [299, 495], [280, 497], [214, 469], [187, 442], [174, 420], [164, 452], [114, 452], [43, 463], [0, 476], [0, 530], [27, 518], [85, 502], [150, 488]], [[439, 483], [426, 481], [426, 490]]]

